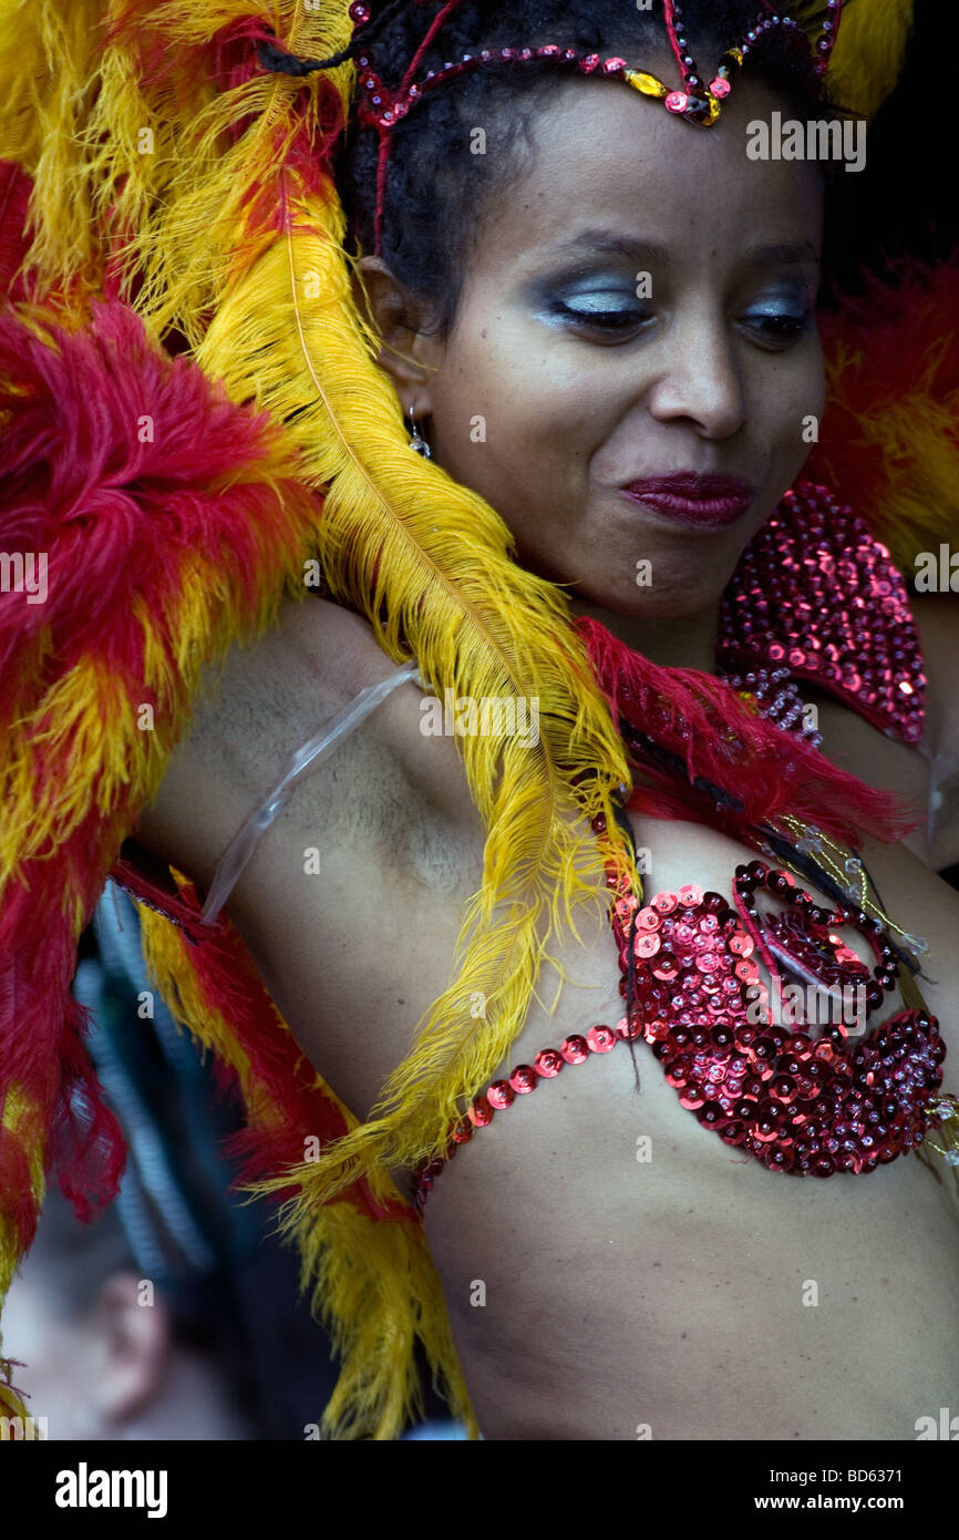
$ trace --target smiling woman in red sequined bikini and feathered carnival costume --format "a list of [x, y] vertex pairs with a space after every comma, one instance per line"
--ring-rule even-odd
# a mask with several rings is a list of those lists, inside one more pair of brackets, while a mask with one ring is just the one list
[[[902, 818], [870, 790], [925, 819], [919, 653], [865, 528], [827, 493], [784, 502], [824, 408], [824, 166], [745, 152], [756, 122], [831, 109], [791, 23], [750, 37], [736, 5], [708, 22], [693, 6], [537, 6], [522, 26], [516, 8], [369, 9], [323, 15], [319, 51], [312, 32], [269, 40], [240, 20], [219, 38], [243, 105], [266, 123], [286, 108], [272, 139], [237, 139], [220, 174], [240, 148], [280, 171], [252, 199], [249, 183], [229, 194], [211, 254], [174, 257], [163, 213], [163, 254], [137, 248], [154, 328], [175, 325], [234, 400], [269, 405], [300, 480], [329, 488], [323, 519], [306, 510], [286, 534], [283, 601], [249, 607], [260, 630], [274, 622], [256, 651], [228, 654], [169, 764], [140, 767], [122, 836], [135, 835], [128, 856], [182, 873], [171, 915], [189, 929], [195, 884], [214, 918], [223, 853], [288, 756], [383, 685], [323, 764], [289, 778], [296, 795], [272, 798], [256, 845], [240, 841], [249, 859], [239, 876], [226, 862], [219, 941], [188, 958], [152, 921], [148, 949], [179, 1013], [232, 1063], [254, 1123], [260, 1109], [272, 1166], [259, 1186], [289, 1197], [296, 1181], [286, 1218], [346, 1355], [328, 1428], [396, 1435], [419, 1335], [486, 1438], [914, 1437], [954, 1392], [959, 1326], [948, 1167], [908, 1158], [951, 1115], [930, 1015], [948, 1044], [959, 899], [936, 869], [959, 850], [957, 802], [944, 788], [934, 842], [894, 839]], [[251, 37], [265, 69], [231, 77]], [[747, 57], [728, 55], [743, 38]], [[825, 62], [830, 29], [822, 42]], [[488, 62], [426, 86], [446, 60], [513, 43], [576, 57], [565, 72], [550, 57]], [[297, 86], [326, 79], [317, 60], [351, 57], [365, 105], [337, 177], [365, 253], [356, 323], [337, 288], [339, 203], [308, 154], [337, 143], [337, 92], [314, 86], [305, 112]], [[385, 122], [396, 100], [405, 111]], [[225, 123], [214, 102], [200, 162]], [[214, 206], [202, 174], [180, 169], [194, 182], [171, 203], [194, 234]], [[251, 203], [269, 205], [259, 226]], [[117, 209], [137, 225], [129, 188]], [[271, 220], [289, 239], [268, 240]], [[234, 276], [217, 265], [228, 246], [243, 253]], [[429, 465], [400, 464], [397, 400]], [[308, 602], [292, 590], [305, 530], [325, 584]], [[877, 594], [888, 614], [865, 634], [856, 611], [871, 621]], [[916, 621], [945, 755], [939, 611]], [[774, 670], [777, 622], [799, 653], [845, 647], [862, 676], [817, 687], [787, 653], [799, 693]], [[222, 622], [194, 631], [205, 656], [225, 650]], [[717, 678], [737, 659], [751, 704]], [[483, 701], [513, 708], [499, 733]], [[525, 732], [503, 736], [520, 705]], [[862, 867], [847, 867], [853, 847]], [[743, 872], [757, 852], [774, 859]], [[799, 873], [810, 899], [768, 882], [770, 865]], [[140, 892], [157, 901], [143, 878]], [[794, 922], [776, 919], [787, 904]], [[713, 932], [723, 944], [703, 949]], [[269, 1009], [257, 1016], [256, 975], [237, 989], [234, 972], [229, 998], [239, 938], [292, 1041]], [[784, 979], [805, 987], [799, 1015]], [[854, 1010], [834, 1026], [824, 1001]], [[608, 1052], [617, 1024], [639, 1095], [625, 1049]], [[864, 1029], [894, 1086], [856, 1056]]]

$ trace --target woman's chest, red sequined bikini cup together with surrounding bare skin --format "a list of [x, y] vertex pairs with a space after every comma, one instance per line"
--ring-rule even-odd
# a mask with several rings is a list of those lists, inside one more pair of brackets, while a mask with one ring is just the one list
[[[820, 1173], [870, 1173], [908, 1149], [942, 1060], [944, 1092], [959, 1073], [959, 895], [902, 847], [867, 842], [862, 864], [887, 907], [868, 884], [862, 909], [844, 916], [825, 884], [780, 878], [771, 861], [757, 881], [756, 850], [716, 830], [630, 821], [639, 907], [620, 904], [613, 924], [551, 950], [477, 1098], [479, 1146], [490, 1121], [582, 1095], [597, 1058], [622, 1066], [633, 1055], [643, 1084], [665, 1089], [657, 1104], [679, 1138], [697, 1124], [782, 1172], [810, 1170], [811, 1150]], [[848, 879], [837, 861], [836, 878]], [[913, 976], [896, 953], [916, 947]], [[631, 1064], [617, 1073], [636, 1081]], [[617, 1101], [605, 1121], [620, 1113]]]

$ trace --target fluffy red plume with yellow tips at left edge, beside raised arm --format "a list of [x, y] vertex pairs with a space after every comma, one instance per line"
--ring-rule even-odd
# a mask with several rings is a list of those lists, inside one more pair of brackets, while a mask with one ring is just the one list
[[166, 357], [117, 302], [69, 330], [37, 308], [0, 316], [0, 545], [46, 561], [45, 602], [0, 593], [6, 1292], [51, 1175], [80, 1214], [115, 1192], [122, 1141], [69, 992], [77, 938], [202, 662], [262, 633], [285, 584], [305, 593], [316, 497], [263, 414]]

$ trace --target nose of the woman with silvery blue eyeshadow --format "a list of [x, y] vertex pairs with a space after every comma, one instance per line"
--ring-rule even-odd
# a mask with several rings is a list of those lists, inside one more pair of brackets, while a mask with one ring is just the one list
[[722, 316], [690, 317], [662, 339], [650, 391], [657, 422], [687, 419], [699, 434], [725, 439], [747, 420], [742, 359]]

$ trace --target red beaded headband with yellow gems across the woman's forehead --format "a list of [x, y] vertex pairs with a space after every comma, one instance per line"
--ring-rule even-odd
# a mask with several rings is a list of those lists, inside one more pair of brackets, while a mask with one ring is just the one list
[[[528, 60], [542, 63], [542, 60], [551, 60], [556, 65], [573, 66], [580, 74], [586, 75], [619, 75], [627, 82], [627, 85], [640, 91], [642, 95], [662, 102], [667, 111], [673, 112], [676, 117], [683, 117], [688, 123], [694, 123], [697, 128], [711, 128], [719, 119], [725, 97], [730, 94], [733, 71], [739, 69], [743, 59], [750, 54], [751, 48], [762, 40], [764, 34], [780, 28], [784, 35], [800, 40], [810, 51], [816, 71], [819, 74], [825, 74], [833, 46], [836, 43], [836, 35], [839, 32], [839, 18], [842, 15], [842, 0], [825, 0], [827, 17], [822, 22], [820, 35], [813, 45], [797, 22], [788, 15], [773, 12], [773, 6], [767, 0], [765, 8], [757, 15], [754, 25], [722, 55], [716, 68], [716, 74], [708, 85], [703, 85], [700, 75], [696, 72], [696, 60], [688, 51], [685, 26], [676, 0], [663, 0], [663, 12], [670, 49], [682, 77], [682, 88], [677, 89], [670, 89], [670, 86], [663, 85], [662, 80], [657, 80], [656, 75], [651, 75], [643, 69], [633, 69], [625, 59], [602, 59], [599, 54], [580, 55], [573, 48], [560, 48], [559, 43], [545, 43], [539, 48], [483, 48], [477, 54], [463, 54], [460, 60], [445, 63], [442, 69], [428, 69], [420, 80], [416, 80], [414, 77], [420, 66], [420, 60], [433, 43], [436, 34], [440, 31], [446, 18], [459, 8], [459, 5], [460, 0], [448, 0], [448, 3], [440, 8], [416, 54], [409, 60], [409, 66], [396, 92], [389, 91], [389, 88], [383, 85], [382, 79], [373, 68], [373, 57], [369, 52], [362, 52], [356, 57], [359, 85], [363, 92], [357, 108], [357, 117], [360, 123], [376, 128], [380, 136], [374, 222], [374, 251], [377, 254], [380, 251], [383, 203], [386, 196], [389, 131], [406, 117], [417, 102], [422, 102], [423, 97], [429, 91], [436, 89], [436, 86], [442, 85], [442, 82], [449, 80], [454, 75], [462, 75], [469, 69], [479, 68], [480, 65], [525, 63]], [[354, 34], [360, 28], [366, 26], [371, 15], [373, 12], [368, 5], [363, 5], [363, 0], [354, 0], [349, 6]], [[260, 62], [268, 69], [283, 71], [292, 66], [291, 72], [296, 74], [309, 74], [314, 69], [328, 69], [334, 63], [340, 63], [343, 59], [343, 55], [337, 55], [322, 60], [294, 60], [291, 55], [283, 54], [271, 45], [259, 43], [257, 48]]]

